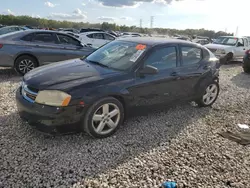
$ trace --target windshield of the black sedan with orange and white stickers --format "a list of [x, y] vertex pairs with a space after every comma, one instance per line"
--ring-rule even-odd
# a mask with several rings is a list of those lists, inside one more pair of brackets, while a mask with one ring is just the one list
[[146, 45], [113, 41], [90, 54], [86, 61], [125, 71], [131, 68], [146, 50]]

